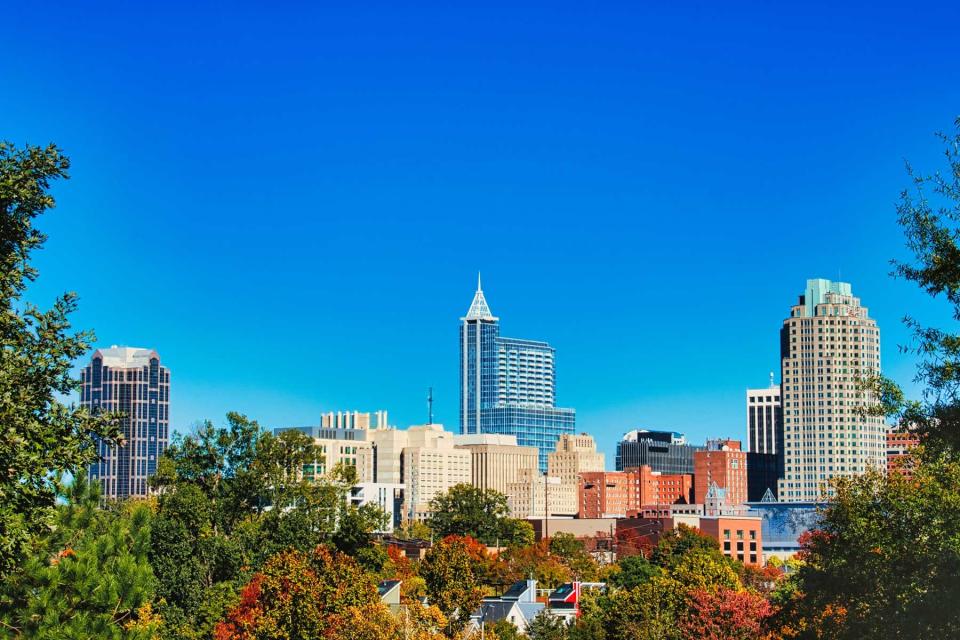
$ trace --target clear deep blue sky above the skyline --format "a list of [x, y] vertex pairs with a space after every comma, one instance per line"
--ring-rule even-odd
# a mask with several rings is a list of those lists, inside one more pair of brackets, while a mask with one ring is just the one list
[[260, 4], [3, 11], [0, 136], [74, 163], [30, 298], [159, 350], [177, 429], [406, 426], [429, 386], [456, 429], [478, 270], [611, 467], [632, 428], [745, 437], [807, 278], [904, 383], [900, 318], [948, 318], [887, 273], [904, 159], [960, 113], [956, 3]]

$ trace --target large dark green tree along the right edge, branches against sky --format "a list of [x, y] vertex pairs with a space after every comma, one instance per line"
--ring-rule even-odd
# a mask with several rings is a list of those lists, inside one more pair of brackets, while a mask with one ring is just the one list
[[[912, 260], [894, 275], [941, 295], [960, 319], [960, 118], [947, 170], [920, 175], [897, 206]], [[890, 380], [866, 386], [877, 413], [914, 430], [913, 477], [869, 471], [834, 481], [818, 528], [801, 541], [804, 563], [774, 592], [780, 628], [800, 638], [919, 638], [960, 634], [960, 334], [907, 317], [920, 358], [923, 399], [907, 401]]]

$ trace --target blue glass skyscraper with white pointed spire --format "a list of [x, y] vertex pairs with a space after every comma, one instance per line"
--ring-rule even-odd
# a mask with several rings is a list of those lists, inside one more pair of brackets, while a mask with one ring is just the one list
[[576, 412], [556, 406], [554, 349], [546, 342], [500, 336], [480, 279], [460, 324], [460, 433], [516, 436], [537, 447], [540, 471]]

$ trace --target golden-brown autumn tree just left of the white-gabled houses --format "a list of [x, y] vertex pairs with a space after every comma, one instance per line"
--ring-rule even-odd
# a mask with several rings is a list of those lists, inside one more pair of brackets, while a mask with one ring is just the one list
[[420, 576], [429, 602], [447, 618], [447, 634], [459, 633], [483, 597], [467, 544], [450, 536], [433, 545], [420, 562]]

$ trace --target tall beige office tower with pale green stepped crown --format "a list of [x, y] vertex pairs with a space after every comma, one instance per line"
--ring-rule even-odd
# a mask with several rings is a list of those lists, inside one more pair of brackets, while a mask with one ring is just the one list
[[807, 280], [780, 331], [785, 478], [783, 502], [821, 498], [831, 478], [886, 466], [883, 418], [859, 382], [880, 373], [880, 330], [850, 284]]

